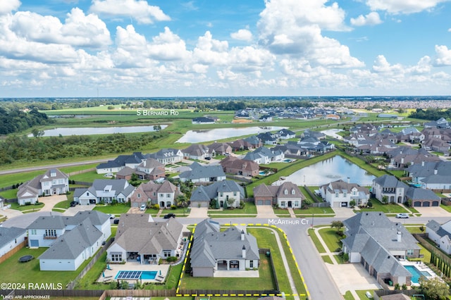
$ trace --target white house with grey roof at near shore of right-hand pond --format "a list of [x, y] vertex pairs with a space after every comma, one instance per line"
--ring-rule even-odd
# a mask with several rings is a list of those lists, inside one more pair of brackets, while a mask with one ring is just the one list
[[330, 207], [349, 207], [352, 200], [357, 206], [366, 205], [369, 200], [369, 189], [343, 180], [329, 182], [319, 187], [319, 192]]

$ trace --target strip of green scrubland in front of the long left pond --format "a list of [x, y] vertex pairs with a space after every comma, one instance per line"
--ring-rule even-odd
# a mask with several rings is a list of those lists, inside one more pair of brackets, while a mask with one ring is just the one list
[[0, 141], [0, 165], [15, 161], [58, 160], [61, 158], [100, 156], [141, 151], [167, 135], [151, 132], [143, 135], [114, 134], [102, 137], [18, 137], [10, 135]]

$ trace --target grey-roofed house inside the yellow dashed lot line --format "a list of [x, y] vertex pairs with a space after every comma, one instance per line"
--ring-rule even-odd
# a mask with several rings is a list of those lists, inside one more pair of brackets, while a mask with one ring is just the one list
[[235, 226], [221, 231], [219, 223], [203, 220], [194, 230], [190, 263], [193, 277], [214, 277], [216, 270], [259, 268], [257, 239]]

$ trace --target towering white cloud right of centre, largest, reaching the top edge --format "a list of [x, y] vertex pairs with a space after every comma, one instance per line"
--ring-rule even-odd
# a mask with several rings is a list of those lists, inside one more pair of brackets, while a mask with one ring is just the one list
[[364, 64], [350, 55], [347, 46], [324, 37], [321, 30], [347, 30], [345, 13], [338, 4], [326, 1], [266, 1], [257, 23], [259, 44], [273, 54], [307, 59], [311, 64], [360, 67]]

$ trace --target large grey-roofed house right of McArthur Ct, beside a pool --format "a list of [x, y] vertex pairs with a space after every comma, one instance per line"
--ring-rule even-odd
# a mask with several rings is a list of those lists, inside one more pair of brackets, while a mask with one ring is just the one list
[[390, 221], [378, 211], [357, 213], [343, 221], [342, 251], [351, 263], [361, 263], [378, 282], [411, 285], [412, 274], [400, 259], [419, 258], [416, 239], [400, 222]]

